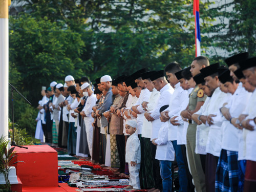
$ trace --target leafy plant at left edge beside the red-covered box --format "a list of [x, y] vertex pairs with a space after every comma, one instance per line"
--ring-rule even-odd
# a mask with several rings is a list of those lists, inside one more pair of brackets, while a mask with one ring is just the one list
[[8, 150], [8, 142], [9, 140], [6, 139], [5, 137], [0, 138], [0, 173], [4, 175], [5, 178], [5, 183], [2, 185], [2, 189], [0, 191], [11, 191], [11, 184], [9, 181], [9, 170], [10, 167], [13, 166], [14, 164], [18, 162], [23, 162], [23, 161], [15, 161], [17, 156], [15, 155], [14, 152], [14, 147], [10, 148]]

